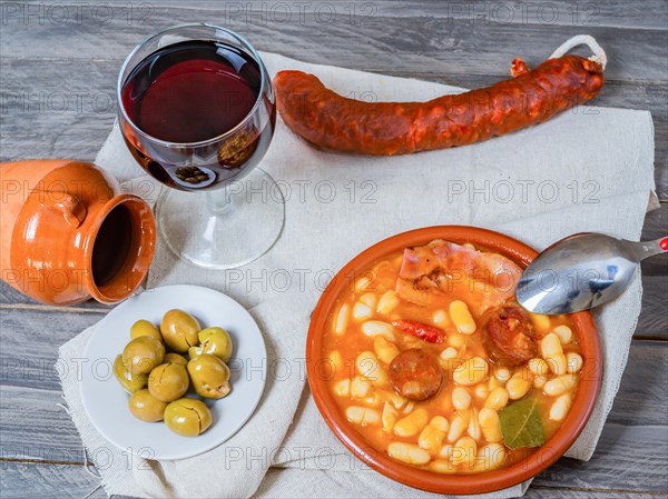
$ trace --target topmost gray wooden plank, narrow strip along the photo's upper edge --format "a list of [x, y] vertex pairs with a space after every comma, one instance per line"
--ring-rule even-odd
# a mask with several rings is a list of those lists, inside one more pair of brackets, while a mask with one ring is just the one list
[[[10, 3], [10, 2], [8, 2]], [[13, 2], [12, 2], [13, 3]], [[24, 16], [38, 17], [41, 14], [45, 22], [79, 22], [79, 19], [94, 18], [94, 7], [89, 10], [80, 8], [78, 11], [72, 9], [67, 14], [52, 6], [59, 6], [58, 0], [28, 0], [23, 3], [39, 3], [45, 6], [40, 9], [28, 11], [27, 8], [7, 8], [4, 17], [8, 19], [22, 19]], [[369, 18], [376, 16], [390, 18], [423, 18], [446, 19], [458, 23], [470, 24], [515, 24], [521, 26], [527, 22], [538, 24], [558, 24], [558, 26], [605, 26], [607, 28], [640, 28], [666, 30], [668, 23], [668, 9], [666, 2], [660, 0], [646, 0], [642, 8], [622, 0], [612, 0], [605, 3], [593, 2], [569, 2], [552, 1], [549, 4], [533, 2], [503, 2], [497, 4], [487, 0], [468, 0], [466, 2], [442, 2], [434, 3], [429, 0], [411, 2], [396, 2], [393, 0], [348, 0], [346, 2], [285, 2], [283, 0], [250, 0], [244, 2], [222, 2], [219, 0], [197, 0], [189, 4], [184, 4], [181, 0], [161, 0], [159, 6], [151, 6], [153, 9], [143, 8], [143, 2], [130, 2], [137, 11], [138, 20], [144, 17], [150, 18], [153, 9], [165, 8], [190, 8], [207, 9], [216, 12], [217, 23], [226, 24], [230, 20], [248, 20], [257, 22], [258, 19], [269, 20], [281, 23], [299, 21], [302, 17], [317, 16], [325, 21], [331, 12], [336, 18], [348, 19], [350, 22], [363, 23]], [[148, 3], [148, 2], [146, 2]], [[116, 6], [111, 6], [112, 9]], [[29, 12], [32, 12], [29, 14]], [[115, 11], [116, 12], [116, 11]], [[118, 14], [117, 14], [118, 16]], [[102, 17], [102, 11], [98, 12], [98, 18]]]

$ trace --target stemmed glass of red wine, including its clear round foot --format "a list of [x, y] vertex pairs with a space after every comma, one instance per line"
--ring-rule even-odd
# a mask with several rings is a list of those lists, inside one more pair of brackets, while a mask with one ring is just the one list
[[156, 219], [173, 252], [229, 269], [274, 244], [284, 200], [255, 167], [274, 134], [275, 97], [250, 43], [206, 23], [166, 29], [126, 59], [118, 102], [128, 149], [167, 187]]

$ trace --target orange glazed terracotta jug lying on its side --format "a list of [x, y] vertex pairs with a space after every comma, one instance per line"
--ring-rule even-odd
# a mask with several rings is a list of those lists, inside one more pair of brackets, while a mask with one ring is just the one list
[[42, 303], [115, 303], [141, 283], [156, 227], [141, 198], [70, 160], [0, 163], [2, 280]]

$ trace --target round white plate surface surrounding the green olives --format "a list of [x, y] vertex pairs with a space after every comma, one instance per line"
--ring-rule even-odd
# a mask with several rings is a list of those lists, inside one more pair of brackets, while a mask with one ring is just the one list
[[[228, 362], [232, 392], [205, 400], [213, 423], [198, 437], [181, 437], [164, 422], [136, 419], [128, 409], [129, 395], [112, 371], [114, 359], [130, 340], [130, 326], [139, 319], [157, 326], [173, 308], [189, 312], [203, 328], [226, 329], [234, 345]], [[147, 459], [184, 459], [219, 446], [250, 418], [266, 380], [267, 352], [253, 317], [232, 298], [199, 286], [165, 286], [122, 302], [98, 323], [84, 356], [80, 387], [90, 420], [111, 443]]]

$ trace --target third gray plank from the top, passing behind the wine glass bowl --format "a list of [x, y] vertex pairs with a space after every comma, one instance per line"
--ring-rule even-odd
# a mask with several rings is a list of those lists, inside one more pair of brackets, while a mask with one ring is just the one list
[[[47, 157], [92, 160], [116, 118], [115, 84], [119, 66], [119, 62], [88, 61], [85, 69], [72, 72], [69, 60], [0, 60], [0, 116], [13, 117], [4, 120], [0, 129], [0, 160]], [[396, 71], [396, 66], [384, 69], [395, 76], [465, 88], [484, 87], [505, 78], [502, 73], [411, 72], [403, 64], [402, 71]], [[657, 192], [660, 199], [668, 200], [668, 84], [609, 81], [595, 102], [651, 111]]]

